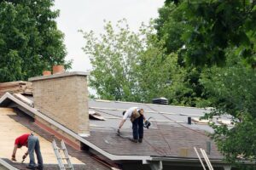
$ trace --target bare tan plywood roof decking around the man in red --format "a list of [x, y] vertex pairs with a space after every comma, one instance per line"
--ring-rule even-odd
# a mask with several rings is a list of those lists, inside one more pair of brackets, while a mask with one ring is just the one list
[[[31, 130], [29, 130], [27, 127], [11, 119], [9, 117], [10, 115], [16, 114], [12, 109], [0, 108], [0, 136], [3, 137], [2, 139], [0, 139], [0, 157], [8, 159], [10, 159], [12, 156], [15, 139], [24, 133], [31, 133]], [[57, 161], [51, 143], [43, 137], [39, 136], [37, 133], [35, 133], [35, 135], [38, 136], [40, 141], [40, 147], [44, 163], [56, 164]], [[22, 147], [17, 150], [17, 161], [22, 161], [22, 156], [24, 155], [26, 150], [26, 147]], [[70, 159], [73, 164], [83, 164], [82, 161], [79, 161], [75, 157], [70, 156]], [[29, 157], [26, 158], [25, 163], [28, 163], [28, 161]]]

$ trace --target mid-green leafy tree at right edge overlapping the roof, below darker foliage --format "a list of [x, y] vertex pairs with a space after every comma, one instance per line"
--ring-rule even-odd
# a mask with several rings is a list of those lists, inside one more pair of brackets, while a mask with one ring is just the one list
[[[232, 57], [231, 57], [232, 56]], [[224, 68], [212, 67], [201, 76], [215, 110], [206, 117], [229, 114], [235, 127], [212, 124], [212, 138], [227, 161], [255, 159], [256, 150], [256, 72], [232, 54]]]

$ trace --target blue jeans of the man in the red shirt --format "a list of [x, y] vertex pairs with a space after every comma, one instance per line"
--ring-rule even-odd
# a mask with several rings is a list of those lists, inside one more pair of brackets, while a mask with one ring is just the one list
[[41, 155], [38, 137], [30, 135], [27, 139], [27, 148], [28, 148], [28, 154], [30, 158], [28, 166], [36, 167], [36, 162], [34, 157], [34, 151], [35, 151], [38, 158], [38, 167], [43, 168], [43, 158]]

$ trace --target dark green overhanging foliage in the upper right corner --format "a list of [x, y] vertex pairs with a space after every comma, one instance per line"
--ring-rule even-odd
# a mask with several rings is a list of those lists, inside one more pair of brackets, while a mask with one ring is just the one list
[[226, 48], [237, 48], [249, 65], [256, 65], [256, 1], [166, 1], [156, 20], [167, 52], [183, 48], [186, 65], [224, 65]]

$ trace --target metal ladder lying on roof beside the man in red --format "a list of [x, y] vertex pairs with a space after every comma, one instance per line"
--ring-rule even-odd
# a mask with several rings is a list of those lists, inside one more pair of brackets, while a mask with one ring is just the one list
[[[61, 170], [67, 170], [67, 169], [73, 170], [73, 165], [72, 165], [72, 163], [69, 159], [69, 156], [68, 156], [68, 153], [67, 153], [67, 148], [66, 148], [66, 145], [65, 145], [64, 141], [61, 140], [61, 148], [58, 148], [57, 144], [55, 142], [55, 139], [54, 139], [52, 141], [52, 146], [53, 146], [53, 149], [55, 151], [55, 156], [57, 158], [60, 169]], [[61, 157], [61, 151], [62, 151], [62, 153], [64, 154], [65, 157]], [[64, 164], [63, 161], [66, 161], [67, 164]]]

